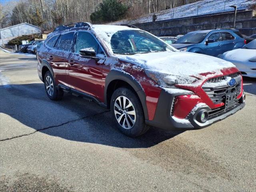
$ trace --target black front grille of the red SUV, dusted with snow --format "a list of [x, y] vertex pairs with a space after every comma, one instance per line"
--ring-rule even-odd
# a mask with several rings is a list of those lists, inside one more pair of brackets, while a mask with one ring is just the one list
[[[236, 79], [236, 84], [234, 86], [229, 86], [228, 84], [220, 86], [219, 82], [225, 80], [228, 76]], [[230, 74], [228, 76], [210, 79], [202, 86], [203, 90], [214, 104], [225, 103], [227, 95], [233, 94], [234, 96], [236, 93], [236, 96], [238, 96], [240, 94], [242, 82], [241, 76], [239, 73]]]

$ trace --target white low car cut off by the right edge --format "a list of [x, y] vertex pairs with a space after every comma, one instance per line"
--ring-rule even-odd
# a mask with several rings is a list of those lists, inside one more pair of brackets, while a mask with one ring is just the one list
[[225, 52], [219, 57], [232, 62], [243, 76], [256, 78], [256, 39], [241, 49]]

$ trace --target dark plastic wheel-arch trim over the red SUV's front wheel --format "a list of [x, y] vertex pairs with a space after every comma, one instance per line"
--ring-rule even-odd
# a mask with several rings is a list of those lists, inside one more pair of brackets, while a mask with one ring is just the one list
[[107, 98], [107, 90], [108, 90], [108, 86], [110, 85], [110, 83], [114, 80], [122, 80], [126, 83], [128, 83], [133, 89], [134, 91], [137, 93], [140, 102], [142, 104], [142, 108], [144, 111], [144, 117], [146, 120], [148, 120], [148, 109], [147, 109], [147, 105], [146, 105], [146, 95], [144, 93], [144, 90], [142, 89], [142, 86], [140, 85], [140, 83], [138, 81], [135, 80], [135, 78], [123, 71], [119, 71], [119, 70], [111, 70], [108, 75], [106, 76], [106, 80], [105, 80], [105, 88], [104, 88], [104, 103], [108, 104], [108, 98]]

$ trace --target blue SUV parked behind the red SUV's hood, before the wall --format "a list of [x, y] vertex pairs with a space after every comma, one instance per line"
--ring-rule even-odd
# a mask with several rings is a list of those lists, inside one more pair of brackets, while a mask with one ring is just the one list
[[181, 51], [218, 56], [224, 52], [242, 48], [244, 38], [235, 29], [200, 30], [187, 33], [172, 46]]

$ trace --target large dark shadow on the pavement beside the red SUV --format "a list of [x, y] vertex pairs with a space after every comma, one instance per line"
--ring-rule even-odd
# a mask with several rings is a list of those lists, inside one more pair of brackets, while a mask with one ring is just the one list
[[148, 148], [181, 133], [152, 127], [129, 138], [118, 131], [107, 109], [71, 94], [51, 101], [42, 83], [0, 86], [0, 112], [44, 134], [120, 148]]

